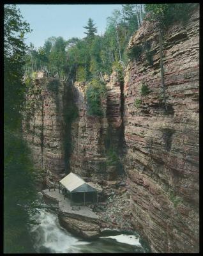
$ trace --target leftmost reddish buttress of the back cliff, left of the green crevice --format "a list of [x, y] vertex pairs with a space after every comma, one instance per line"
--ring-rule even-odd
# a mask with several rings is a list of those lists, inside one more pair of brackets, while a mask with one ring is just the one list
[[51, 185], [64, 174], [63, 84], [40, 75], [27, 93], [31, 109], [25, 113], [23, 130], [36, 167], [45, 171], [45, 183]]

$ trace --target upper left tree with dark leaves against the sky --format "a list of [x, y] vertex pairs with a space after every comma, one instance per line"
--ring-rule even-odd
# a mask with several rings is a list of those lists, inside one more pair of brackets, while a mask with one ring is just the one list
[[22, 85], [22, 67], [26, 45], [22, 35], [29, 24], [15, 5], [4, 5], [4, 123], [15, 130], [20, 127], [20, 110], [26, 86]]

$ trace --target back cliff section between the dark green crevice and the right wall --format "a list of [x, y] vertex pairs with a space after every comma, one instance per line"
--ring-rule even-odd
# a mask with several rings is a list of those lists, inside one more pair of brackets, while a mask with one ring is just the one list
[[[117, 148], [121, 129], [121, 84], [114, 72], [107, 83], [107, 100], [103, 100], [104, 116], [89, 116], [87, 113], [87, 84], [74, 85], [75, 104], [79, 116], [71, 124], [70, 171], [90, 180], [114, 180], [119, 171], [107, 164], [108, 148]], [[110, 145], [111, 144], [111, 145]]]

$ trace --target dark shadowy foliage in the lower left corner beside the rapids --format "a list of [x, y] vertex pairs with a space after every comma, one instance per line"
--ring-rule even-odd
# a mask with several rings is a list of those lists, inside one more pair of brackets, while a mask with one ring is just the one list
[[26, 143], [17, 132], [4, 133], [4, 252], [31, 251], [27, 232], [29, 215], [35, 212], [34, 168]]

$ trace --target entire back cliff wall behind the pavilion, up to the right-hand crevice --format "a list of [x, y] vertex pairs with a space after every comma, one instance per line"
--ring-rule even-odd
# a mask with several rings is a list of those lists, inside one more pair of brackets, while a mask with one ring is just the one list
[[95, 182], [123, 177], [121, 162], [108, 162], [109, 148], [116, 151], [123, 138], [121, 83], [116, 71], [107, 79], [103, 116], [87, 113], [85, 82], [62, 83], [43, 72], [31, 81], [23, 130], [45, 184], [54, 186], [69, 172]]

